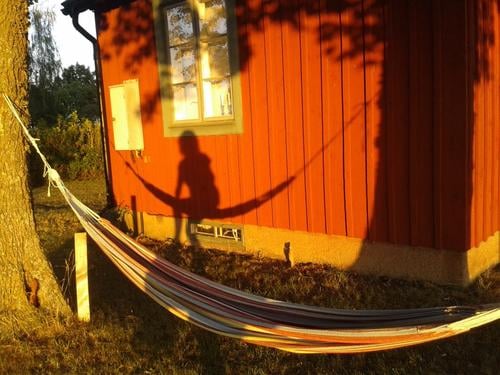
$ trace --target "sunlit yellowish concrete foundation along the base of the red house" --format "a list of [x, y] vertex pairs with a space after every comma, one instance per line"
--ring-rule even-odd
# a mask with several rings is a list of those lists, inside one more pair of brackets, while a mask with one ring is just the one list
[[[192, 222], [188, 219], [140, 212], [129, 212], [124, 219], [129, 229], [158, 240], [177, 237], [181, 243], [281, 258], [290, 261], [292, 265], [325, 263], [364, 274], [438, 283], [466, 285], [500, 261], [500, 231], [481, 242], [478, 247], [458, 252], [241, 224], [234, 225], [243, 233], [243, 241], [237, 242], [192, 235], [188, 231]], [[201, 223], [231, 225], [212, 221]]]

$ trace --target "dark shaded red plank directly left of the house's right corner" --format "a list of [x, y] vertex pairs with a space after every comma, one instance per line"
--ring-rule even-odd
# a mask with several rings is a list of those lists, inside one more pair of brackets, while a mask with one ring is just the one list
[[464, 250], [466, 199], [465, 4], [435, 1], [435, 219], [436, 247]]

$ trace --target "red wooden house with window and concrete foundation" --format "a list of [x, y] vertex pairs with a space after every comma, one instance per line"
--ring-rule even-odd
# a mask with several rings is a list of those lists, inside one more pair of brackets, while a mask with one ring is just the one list
[[440, 282], [499, 262], [500, 1], [63, 3], [88, 9], [136, 231]]

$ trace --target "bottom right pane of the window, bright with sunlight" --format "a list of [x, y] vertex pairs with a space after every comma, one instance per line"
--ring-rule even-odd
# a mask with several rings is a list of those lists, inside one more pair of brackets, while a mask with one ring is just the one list
[[233, 115], [231, 80], [203, 80], [205, 117]]

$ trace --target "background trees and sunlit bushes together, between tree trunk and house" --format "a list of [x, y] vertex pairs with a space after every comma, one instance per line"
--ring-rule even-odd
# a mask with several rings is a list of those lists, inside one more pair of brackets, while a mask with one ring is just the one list
[[[95, 74], [81, 64], [63, 68], [52, 35], [55, 14], [33, 6], [30, 11], [29, 112], [40, 148], [63, 178], [102, 175], [102, 143]], [[43, 166], [29, 157], [30, 184], [44, 182]]]

